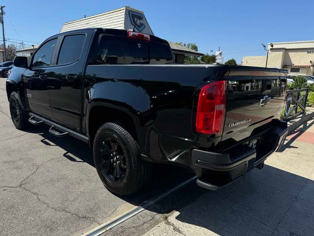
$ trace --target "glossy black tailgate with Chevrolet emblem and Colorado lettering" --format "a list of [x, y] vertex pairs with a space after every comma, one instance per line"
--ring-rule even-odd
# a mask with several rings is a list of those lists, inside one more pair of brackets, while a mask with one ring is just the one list
[[254, 129], [280, 118], [286, 74], [267, 71], [228, 72], [226, 119], [222, 141], [240, 141]]

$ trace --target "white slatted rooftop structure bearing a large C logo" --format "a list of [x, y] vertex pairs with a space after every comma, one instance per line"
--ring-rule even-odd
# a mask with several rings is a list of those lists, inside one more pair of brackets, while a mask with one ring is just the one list
[[85, 28], [134, 29], [137, 32], [154, 35], [144, 12], [129, 6], [63, 23], [60, 33]]

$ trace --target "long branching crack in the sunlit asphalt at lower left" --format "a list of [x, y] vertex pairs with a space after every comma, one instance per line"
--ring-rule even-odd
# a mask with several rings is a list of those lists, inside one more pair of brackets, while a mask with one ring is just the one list
[[52, 158], [52, 159], [50, 159], [50, 160], [48, 160], [48, 161], [43, 162], [43, 163], [40, 164], [39, 166], [37, 166], [37, 168], [35, 169], [35, 171], [33, 171], [30, 175], [28, 175], [25, 179], [23, 179], [23, 180], [20, 182], [19, 186], [0, 186], [0, 188], [22, 188], [22, 189], [25, 190], [26, 192], [29, 192], [29, 193], [35, 195], [36, 198], [37, 198], [37, 200], [38, 200], [40, 203], [44, 204], [46, 207], [48, 207], [48, 208], [50, 208], [50, 209], [52, 209], [52, 210], [59, 211], [59, 212], [64, 212], [64, 213], [68, 213], [68, 214], [71, 214], [71, 215], [73, 215], [73, 216], [78, 217], [79, 219], [85, 219], [85, 220], [93, 221], [93, 222], [97, 223], [98, 225], [100, 225], [101, 223], [98, 222], [98, 221], [97, 221], [96, 219], [94, 219], [93, 217], [81, 216], [81, 215], [78, 215], [78, 214], [76, 214], [76, 213], [74, 213], [74, 212], [71, 212], [71, 211], [69, 211], [69, 210], [66, 210], [66, 209], [56, 208], [56, 207], [50, 206], [50, 205], [49, 205], [48, 203], [46, 203], [44, 200], [42, 200], [42, 199], [39, 198], [39, 196], [45, 196], [45, 197], [47, 197], [46, 195], [40, 194], [40, 193], [36, 193], [36, 192], [31, 191], [31, 190], [29, 190], [29, 189], [27, 189], [26, 187], [23, 186], [24, 182], [25, 182], [27, 179], [29, 179], [30, 177], [32, 177], [33, 175], [35, 175], [35, 173], [40, 169], [40, 167], [42, 167], [44, 164], [46, 164], [46, 163], [48, 163], [48, 162], [50, 162], [50, 161], [56, 160], [56, 159], [60, 159], [60, 157]]

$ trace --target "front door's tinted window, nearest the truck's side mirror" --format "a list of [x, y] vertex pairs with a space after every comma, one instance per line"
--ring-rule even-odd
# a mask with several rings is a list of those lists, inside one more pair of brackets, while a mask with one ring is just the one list
[[57, 39], [52, 39], [51, 41], [45, 43], [40, 49], [35, 53], [33, 59], [33, 66], [48, 66], [51, 63], [52, 52]]

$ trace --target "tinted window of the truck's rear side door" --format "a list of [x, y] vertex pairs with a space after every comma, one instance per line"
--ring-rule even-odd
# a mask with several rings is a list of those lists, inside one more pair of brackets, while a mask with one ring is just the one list
[[82, 52], [84, 41], [84, 34], [65, 36], [57, 64], [68, 64], [78, 60]]

